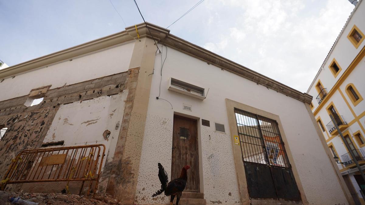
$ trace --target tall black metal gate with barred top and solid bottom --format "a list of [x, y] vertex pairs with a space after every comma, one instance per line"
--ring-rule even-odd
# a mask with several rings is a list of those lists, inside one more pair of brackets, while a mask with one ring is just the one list
[[250, 198], [300, 201], [275, 120], [235, 108]]

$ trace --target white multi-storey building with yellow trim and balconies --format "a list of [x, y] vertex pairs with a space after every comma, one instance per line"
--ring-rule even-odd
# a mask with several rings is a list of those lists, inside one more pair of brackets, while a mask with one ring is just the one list
[[[365, 204], [361, 193], [365, 182], [350, 156], [351, 151], [360, 165], [365, 164], [364, 19], [365, 3], [360, 0], [308, 89], [308, 94], [314, 96], [312, 112], [333, 157], [339, 158], [337, 167], [356, 204]], [[330, 115], [351, 150], [346, 148]]]

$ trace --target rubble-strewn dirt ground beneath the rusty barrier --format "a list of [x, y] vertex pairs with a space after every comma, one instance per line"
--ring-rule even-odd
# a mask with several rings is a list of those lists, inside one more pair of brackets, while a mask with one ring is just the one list
[[11, 197], [20, 197], [23, 200], [33, 201], [39, 203], [39, 205], [54, 204], [54, 205], [109, 205], [109, 204], [120, 204], [118, 201], [114, 200], [111, 196], [101, 196], [101, 197], [85, 197], [78, 196], [75, 194], [61, 194], [61, 193], [20, 193], [20, 192], [3, 192], [0, 191], [0, 204], [1, 205], [14, 205], [9, 199]]

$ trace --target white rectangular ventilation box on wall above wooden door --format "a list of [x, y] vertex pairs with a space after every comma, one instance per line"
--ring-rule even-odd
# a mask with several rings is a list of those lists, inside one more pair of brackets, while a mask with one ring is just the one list
[[200, 100], [204, 100], [207, 97], [205, 88], [201, 88], [175, 78], [169, 79], [168, 89]]

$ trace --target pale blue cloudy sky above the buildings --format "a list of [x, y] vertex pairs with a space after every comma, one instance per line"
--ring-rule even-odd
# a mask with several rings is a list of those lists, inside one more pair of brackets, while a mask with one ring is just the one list
[[[127, 26], [132, 0], [111, 0]], [[167, 27], [199, 0], [136, 0]], [[0, 60], [12, 66], [126, 27], [110, 0], [0, 0]], [[348, 0], [205, 0], [169, 27], [227, 59], [306, 92], [354, 6]]]

